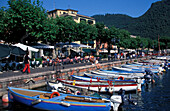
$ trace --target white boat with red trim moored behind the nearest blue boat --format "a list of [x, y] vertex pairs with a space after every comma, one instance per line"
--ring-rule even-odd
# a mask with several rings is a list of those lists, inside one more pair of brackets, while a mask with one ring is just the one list
[[57, 79], [58, 82], [61, 82], [65, 86], [87, 89], [95, 92], [118, 92], [121, 88], [125, 91], [141, 91], [141, 86], [138, 86], [137, 83], [116, 83], [113, 81], [80, 81], [80, 80], [66, 80], [66, 79]]

